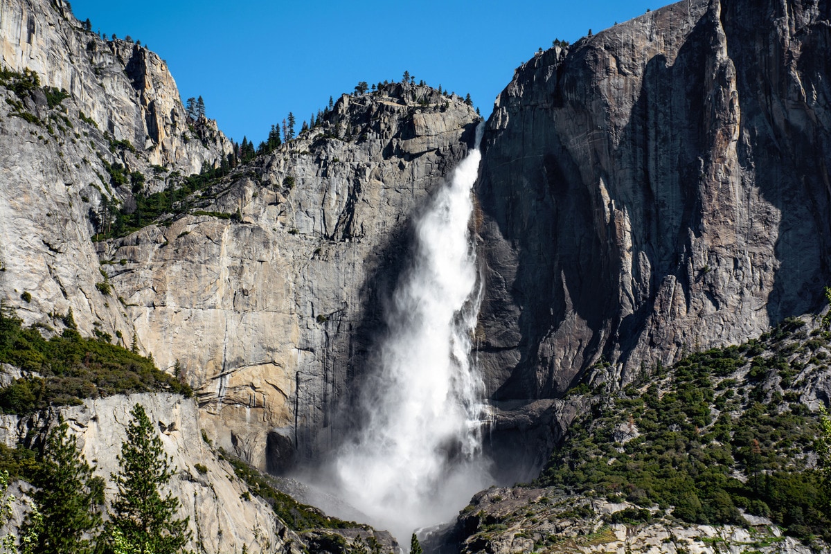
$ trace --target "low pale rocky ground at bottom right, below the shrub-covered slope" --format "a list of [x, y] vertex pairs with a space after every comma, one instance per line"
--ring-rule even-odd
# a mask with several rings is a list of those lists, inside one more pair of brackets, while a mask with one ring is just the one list
[[[785, 537], [763, 517], [747, 518], [746, 527], [682, 524], [659, 509], [646, 510], [626, 502], [567, 497], [549, 488], [490, 488], [460, 512], [455, 528], [434, 534], [424, 543], [428, 552], [462, 554], [831, 552], [821, 542], [806, 546]], [[451, 542], [442, 544], [440, 537], [450, 537]]]

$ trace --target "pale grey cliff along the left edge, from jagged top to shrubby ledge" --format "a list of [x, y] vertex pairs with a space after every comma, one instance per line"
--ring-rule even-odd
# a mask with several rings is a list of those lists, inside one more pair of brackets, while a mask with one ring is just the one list
[[[219, 163], [230, 141], [209, 120], [188, 129], [158, 56], [83, 31], [62, 2], [0, 3], [0, 61], [69, 95], [49, 105], [41, 88], [17, 96], [0, 87], [0, 295], [27, 323], [60, 327], [71, 309], [86, 336], [118, 333], [129, 346], [132, 322], [117, 293], [102, 287], [91, 242], [91, 219], [105, 204], [133, 201], [130, 179], [119, 186], [107, 164], [160, 190], [173, 183], [166, 176], [174, 170]], [[167, 169], [159, 173], [154, 164]]]

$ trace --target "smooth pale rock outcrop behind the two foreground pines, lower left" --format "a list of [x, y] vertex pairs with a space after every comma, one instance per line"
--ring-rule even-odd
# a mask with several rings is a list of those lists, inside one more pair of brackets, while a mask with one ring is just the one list
[[[119, 472], [117, 456], [126, 440], [125, 429], [135, 404], [141, 404], [150, 421], [158, 425], [165, 453], [170, 456], [170, 465], [174, 468], [170, 492], [180, 502], [178, 517], [189, 517], [192, 534], [186, 545], [189, 552], [224, 554], [243, 552], [243, 547], [245, 552], [269, 554], [325, 552], [325, 548], [317, 547], [323, 538], [352, 543], [366, 542], [370, 537], [380, 545], [381, 551], [396, 550], [397, 545], [388, 533], [374, 532], [371, 527], [309, 528], [302, 532], [288, 527], [203, 439], [196, 404], [179, 395], [116, 395], [60, 409], [71, 434], [76, 436], [77, 448], [86, 460], [93, 462], [95, 474], [107, 483], [108, 504], [117, 492], [111, 475]], [[37, 441], [54, 424], [56, 414], [4, 415], [0, 421], [0, 442], [14, 447]], [[22, 488], [27, 489], [27, 485]]]

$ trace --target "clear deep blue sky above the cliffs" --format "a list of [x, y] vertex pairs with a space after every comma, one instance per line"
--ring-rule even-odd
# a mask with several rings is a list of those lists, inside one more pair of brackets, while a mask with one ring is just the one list
[[300, 121], [358, 81], [416, 81], [487, 116], [514, 68], [554, 38], [574, 42], [661, 4], [646, 0], [71, 0], [92, 30], [130, 35], [170, 66], [183, 99], [237, 141], [258, 144], [289, 111]]

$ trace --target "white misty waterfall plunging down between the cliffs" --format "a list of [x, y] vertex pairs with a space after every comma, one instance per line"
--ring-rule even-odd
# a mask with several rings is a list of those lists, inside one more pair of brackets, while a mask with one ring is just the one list
[[362, 395], [367, 420], [335, 461], [342, 498], [404, 545], [489, 485], [483, 385], [470, 362], [480, 281], [468, 225], [479, 138], [416, 223], [416, 258], [396, 287], [381, 366]]

